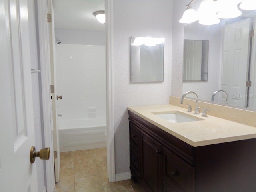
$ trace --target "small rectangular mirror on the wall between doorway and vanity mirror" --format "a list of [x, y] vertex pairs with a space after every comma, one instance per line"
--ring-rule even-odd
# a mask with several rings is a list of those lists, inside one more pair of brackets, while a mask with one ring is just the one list
[[164, 38], [131, 39], [131, 82], [163, 82]]

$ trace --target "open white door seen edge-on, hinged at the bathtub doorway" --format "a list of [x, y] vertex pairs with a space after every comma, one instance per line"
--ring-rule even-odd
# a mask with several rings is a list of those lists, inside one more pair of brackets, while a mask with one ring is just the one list
[[54, 159], [55, 182], [60, 180], [60, 144], [58, 128], [58, 100], [56, 87], [56, 62], [55, 62], [55, 32], [54, 32], [54, 11], [52, 0], [48, 0], [48, 13], [51, 14], [52, 21], [48, 23], [50, 38], [50, 62], [51, 62], [51, 84], [54, 86], [52, 93], [52, 120], [53, 120], [53, 150], [57, 154]]

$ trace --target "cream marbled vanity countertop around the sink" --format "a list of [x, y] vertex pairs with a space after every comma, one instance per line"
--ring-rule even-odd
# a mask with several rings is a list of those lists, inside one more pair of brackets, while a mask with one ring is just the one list
[[[210, 115], [202, 117], [202, 113], [188, 113], [187, 109], [174, 105], [132, 106], [128, 110], [194, 147], [256, 138], [255, 127]], [[171, 123], [152, 114], [168, 111], [180, 111], [204, 120]]]

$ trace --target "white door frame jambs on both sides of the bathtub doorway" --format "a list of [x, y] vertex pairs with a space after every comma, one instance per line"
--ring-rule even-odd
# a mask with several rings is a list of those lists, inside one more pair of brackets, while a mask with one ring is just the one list
[[[50, 48], [47, 26], [47, 0], [37, 0], [38, 31], [40, 48], [42, 110], [44, 123], [44, 144], [53, 148], [51, 109], [50, 109]], [[109, 182], [115, 182], [114, 147], [114, 90], [113, 90], [113, 0], [106, 0], [106, 100], [107, 100], [107, 168]], [[47, 191], [53, 192], [54, 160], [46, 163]]]

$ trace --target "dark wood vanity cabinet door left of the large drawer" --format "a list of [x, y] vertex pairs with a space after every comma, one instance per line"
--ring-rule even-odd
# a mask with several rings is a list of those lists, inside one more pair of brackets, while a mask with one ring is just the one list
[[161, 191], [162, 146], [159, 142], [141, 132], [142, 136], [142, 181], [152, 192]]

